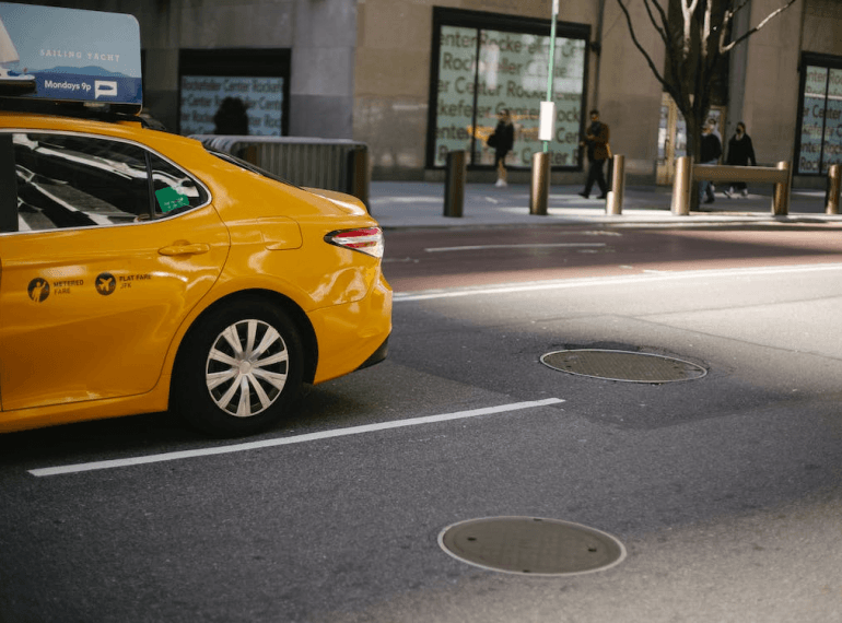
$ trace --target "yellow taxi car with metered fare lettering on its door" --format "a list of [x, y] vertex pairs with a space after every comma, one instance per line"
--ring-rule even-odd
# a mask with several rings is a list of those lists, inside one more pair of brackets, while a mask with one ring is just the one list
[[252, 434], [386, 356], [359, 200], [90, 117], [0, 110], [0, 431], [172, 410]]

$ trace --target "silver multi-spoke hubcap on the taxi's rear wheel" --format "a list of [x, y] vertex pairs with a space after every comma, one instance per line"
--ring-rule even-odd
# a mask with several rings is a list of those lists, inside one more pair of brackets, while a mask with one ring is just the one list
[[281, 395], [289, 351], [271, 325], [242, 320], [217, 337], [204, 369], [208, 391], [219, 408], [236, 418], [250, 418]]

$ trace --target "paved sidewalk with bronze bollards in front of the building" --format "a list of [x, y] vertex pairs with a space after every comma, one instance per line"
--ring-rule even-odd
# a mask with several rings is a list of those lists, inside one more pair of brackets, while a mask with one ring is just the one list
[[611, 224], [692, 226], [701, 224], [823, 223], [842, 226], [842, 215], [825, 214], [825, 191], [794, 190], [787, 216], [772, 215], [772, 187], [763, 195], [728, 199], [716, 192], [714, 203], [687, 216], [670, 211], [671, 186], [627, 187], [622, 214], [608, 215], [596, 193], [584, 199], [578, 186], [552, 186], [546, 216], [529, 214], [529, 186], [468, 184], [463, 216], [444, 215], [444, 184], [430, 181], [372, 181], [369, 204], [385, 228], [471, 227], [481, 225]]

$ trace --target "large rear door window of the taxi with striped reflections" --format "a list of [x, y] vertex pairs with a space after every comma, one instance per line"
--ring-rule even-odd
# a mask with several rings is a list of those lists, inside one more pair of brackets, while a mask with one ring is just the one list
[[147, 152], [93, 137], [12, 134], [19, 231], [104, 226], [151, 216]]

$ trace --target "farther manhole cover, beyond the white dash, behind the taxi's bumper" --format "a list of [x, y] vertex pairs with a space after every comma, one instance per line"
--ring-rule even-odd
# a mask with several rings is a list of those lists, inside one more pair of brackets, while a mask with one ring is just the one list
[[541, 363], [560, 372], [630, 383], [691, 380], [707, 374], [702, 366], [675, 357], [599, 349], [547, 353]]

